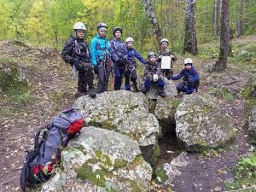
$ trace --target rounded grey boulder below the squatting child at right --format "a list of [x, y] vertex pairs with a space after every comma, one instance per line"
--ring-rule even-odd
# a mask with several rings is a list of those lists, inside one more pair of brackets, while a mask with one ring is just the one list
[[221, 148], [236, 136], [228, 118], [211, 96], [183, 96], [175, 113], [177, 141], [188, 151]]

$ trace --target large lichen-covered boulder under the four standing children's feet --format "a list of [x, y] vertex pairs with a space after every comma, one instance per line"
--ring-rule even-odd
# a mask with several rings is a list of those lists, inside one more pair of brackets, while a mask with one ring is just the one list
[[74, 103], [87, 121], [103, 129], [118, 131], [137, 140], [143, 157], [154, 164], [159, 156], [160, 125], [148, 113], [148, 101], [143, 93], [118, 90], [99, 94], [95, 99], [82, 96]]

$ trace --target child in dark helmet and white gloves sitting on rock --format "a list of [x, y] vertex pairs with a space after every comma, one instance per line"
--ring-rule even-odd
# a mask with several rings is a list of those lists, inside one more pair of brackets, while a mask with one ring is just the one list
[[158, 92], [160, 96], [165, 97], [165, 81], [163, 76], [161, 75], [160, 64], [156, 61], [156, 55], [154, 52], [148, 53], [148, 62], [144, 68], [144, 88], [143, 93], [146, 94], [152, 82], [156, 82], [158, 84]]

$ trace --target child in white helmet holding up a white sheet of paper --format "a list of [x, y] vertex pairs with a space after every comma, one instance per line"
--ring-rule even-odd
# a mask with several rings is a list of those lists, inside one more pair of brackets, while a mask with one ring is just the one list
[[171, 69], [162, 69], [162, 73], [168, 79], [168, 78], [172, 77], [173, 62], [177, 60], [177, 57], [173, 54], [171, 49], [168, 49], [169, 41], [168, 41], [167, 38], [161, 39], [160, 44], [161, 44], [161, 49], [160, 49], [160, 52], [157, 56], [157, 61], [160, 62], [163, 56], [170, 56], [171, 59], [172, 59]]

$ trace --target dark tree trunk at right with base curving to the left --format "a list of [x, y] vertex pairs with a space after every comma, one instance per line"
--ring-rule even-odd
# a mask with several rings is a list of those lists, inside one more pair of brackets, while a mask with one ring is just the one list
[[230, 0], [222, 0], [220, 13], [220, 50], [213, 71], [222, 72], [227, 67], [230, 55]]

